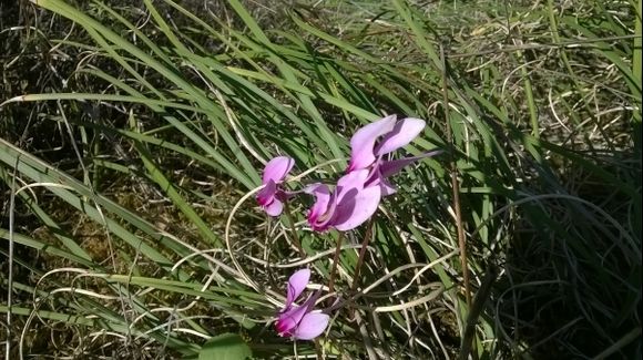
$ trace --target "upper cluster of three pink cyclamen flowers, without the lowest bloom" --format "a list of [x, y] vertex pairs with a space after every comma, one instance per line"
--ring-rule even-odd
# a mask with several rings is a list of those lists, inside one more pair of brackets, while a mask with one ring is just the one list
[[307, 218], [316, 232], [331, 227], [346, 232], [366, 222], [379, 205], [382, 196], [395, 194], [388, 177], [402, 167], [438, 152], [401, 160], [385, 160], [385, 155], [410, 143], [425, 127], [425, 121], [406, 117], [397, 121], [396, 115], [380, 119], [359, 128], [350, 138], [350, 162], [346, 174], [334, 189], [326, 184], [313, 184], [299, 192], [285, 191], [280, 185], [295, 165], [287, 156], [271, 160], [264, 169], [264, 188], [257, 202], [271, 216], [278, 216], [284, 202], [298, 193], [315, 196], [316, 202]]

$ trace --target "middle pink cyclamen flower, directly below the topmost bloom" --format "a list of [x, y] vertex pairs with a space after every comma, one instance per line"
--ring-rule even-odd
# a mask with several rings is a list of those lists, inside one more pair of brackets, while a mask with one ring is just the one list
[[379, 205], [381, 189], [379, 186], [366, 186], [369, 171], [350, 172], [337, 181], [330, 193], [327, 185], [315, 184], [305, 189], [316, 197], [308, 212], [308, 224], [316, 232], [330, 227], [346, 232], [366, 222]]

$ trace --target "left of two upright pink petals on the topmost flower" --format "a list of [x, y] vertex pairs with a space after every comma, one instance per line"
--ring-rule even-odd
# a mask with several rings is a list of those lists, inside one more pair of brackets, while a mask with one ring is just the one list
[[347, 172], [366, 168], [375, 162], [375, 142], [390, 132], [396, 122], [396, 115], [389, 115], [359, 128], [350, 138], [350, 163]]

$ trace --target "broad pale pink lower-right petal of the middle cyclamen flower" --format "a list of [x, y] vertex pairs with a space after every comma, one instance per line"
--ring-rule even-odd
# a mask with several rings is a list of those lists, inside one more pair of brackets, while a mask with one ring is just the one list
[[353, 188], [350, 193], [337, 204], [331, 220], [331, 225], [341, 232], [354, 229], [366, 222], [375, 214], [381, 198], [379, 186], [369, 186], [359, 191]]

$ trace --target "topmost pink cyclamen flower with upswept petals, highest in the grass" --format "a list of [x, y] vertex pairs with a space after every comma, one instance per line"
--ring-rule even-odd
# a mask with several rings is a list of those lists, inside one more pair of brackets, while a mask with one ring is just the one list
[[[425, 125], [425, 121], [420, 119], [406, 117], [397, 121], [396, 115], [389, 115], [359, 128], [350, 138], [350, 162], [346, 171], [353, 173], [368, 169], [365, 187], [379, 185], [381, 196], [394, 194], [396, 189], [387, 177], [398, 173], [406, 165], [439, 152], [396, 161], [386, 161], [382, 157], [409, 144], [421, 133]], [[384, 137], [378, 142], [381, 136]]]

